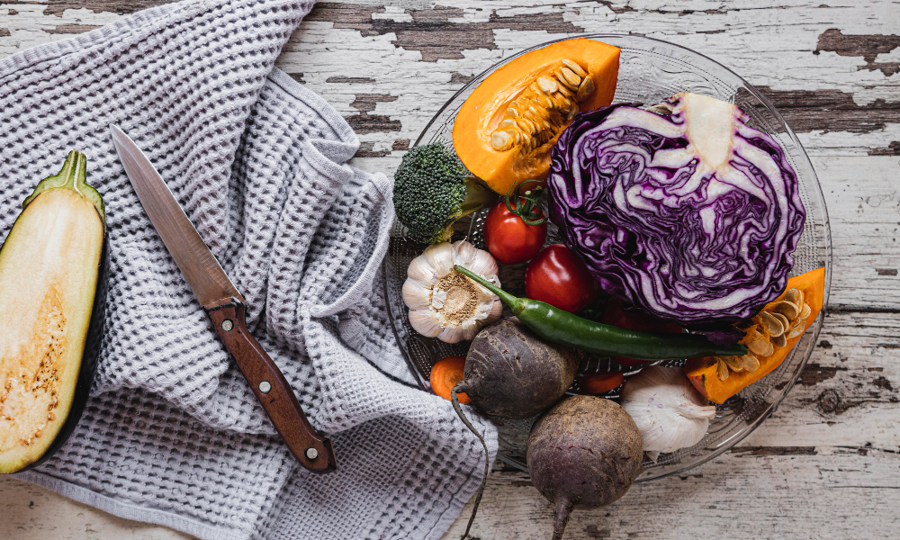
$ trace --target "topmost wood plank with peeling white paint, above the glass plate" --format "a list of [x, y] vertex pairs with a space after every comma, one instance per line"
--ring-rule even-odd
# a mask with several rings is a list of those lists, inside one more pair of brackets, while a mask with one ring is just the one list
[[[86, 31], [118, 18], [114, 12], [161, 3], [0, 4], [0, 10], [15, 12], [4, 17], [0, 56], [47, 42], [53, 37], [48, 32]], [[535, 4], [322, 2], [294, 34], [280, 65], [302, 73], [304, 82], [338, 110], [356, 116], [363, 157], [400, 157], [405, 145], [398, 141], [414, 140], [464, 81], [511, 52], [581, 33], [637, 32], [704, 52], [760, 86], [801, 132], [811, 153], [900, 153], [896, 1], [814, 6], [779, 0], [757, 7], [746, 1], [695, 0], [677, 9], [662, 1]], [[342, 67], [353, 71], [349, 80], [334, 78]], [[397, 99], [380, 105], [379, 114], [365, 115], [352, 105], [356, 94]]]

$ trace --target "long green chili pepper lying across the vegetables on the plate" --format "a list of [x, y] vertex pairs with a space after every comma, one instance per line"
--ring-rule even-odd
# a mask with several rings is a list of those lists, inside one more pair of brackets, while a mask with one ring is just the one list
[[679, 360], [694, 356], [742, 356], [743, 345], [718, 346], [697, 334], [666, 334], [642, 330], [620, 329], [608, 324], [582, 319], [554, 306], [518, 298], [491, 284], [481, 275], [462, 266], [454, 266], [463, 274], [500, 297], [513, 314], [539, 337], [567, 347], [576, 347], [604, 356], [624, 356], [637, 360]]

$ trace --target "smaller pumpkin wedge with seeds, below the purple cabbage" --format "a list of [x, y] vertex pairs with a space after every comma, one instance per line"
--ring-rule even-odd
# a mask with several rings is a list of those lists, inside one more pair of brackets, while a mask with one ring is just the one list
[[689, 358], [684, 373], [707, 400], [724, 403], [785, 361], [822, 311], [824, 289], [824, 268], [788, 279], [785, 292], [745, 325], [747, 355]]

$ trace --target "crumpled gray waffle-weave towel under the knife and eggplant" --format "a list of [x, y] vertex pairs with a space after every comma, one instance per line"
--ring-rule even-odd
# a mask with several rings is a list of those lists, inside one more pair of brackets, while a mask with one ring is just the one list
[[[0, 234], [79, 149], [112, 257], [92, 399], [67, 446], [20, 478], [217, 540], [438, 538], [472, 496], [482, 447], [414, 386], [385, 314], [391, 183], [348, 166], [347, 123], [273, 67], [311, 6], [167, 4], [0, 60]], [[110, 123], [244, 293], [254, 334], [333, 437], [338, 472], [306, 472], [273, 436], [150, 226]], [[493, 453], [496, 433], [477, 427]]]

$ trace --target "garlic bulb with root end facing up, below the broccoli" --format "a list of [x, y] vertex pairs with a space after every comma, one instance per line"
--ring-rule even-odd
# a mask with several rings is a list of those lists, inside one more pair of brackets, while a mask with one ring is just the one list
[[500, 319], [503, 312], [496, 294], [456, 272], [454, 265], [500, 286], [494, 257], [465, 240], [428, 246], [412, 259], [403, 284], [412, 328], [446, 343], [475, 338], [479, 329]]

